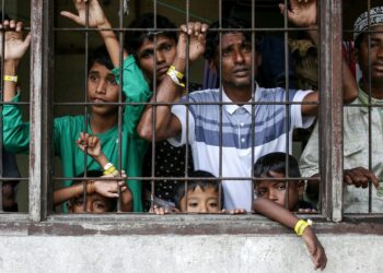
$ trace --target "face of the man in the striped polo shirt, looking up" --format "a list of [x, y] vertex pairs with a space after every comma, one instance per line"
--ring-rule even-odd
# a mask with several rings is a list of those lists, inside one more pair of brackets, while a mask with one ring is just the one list
[[[216, 50], [213, 68], [219, 71], [219, 46]], [[262, 58], [252, 50], [252, 43], [242, 33], [227, 33], [222, 35], [222, 82], [232, 87], [248, 87], [252, 83], [252, 58], [254, 57], [254, 76]]]

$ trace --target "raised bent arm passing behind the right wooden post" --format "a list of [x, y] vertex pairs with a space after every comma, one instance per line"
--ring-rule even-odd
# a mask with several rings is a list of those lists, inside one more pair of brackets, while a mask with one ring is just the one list
[[[316, 48], [320, 48], [320, 36], [317, 32], [317, 3], [316, 0], [290, 0], [290, 10], [287, 11], [288, 20], [299, 27], [313, 28], [307, 31], [309, 37], [313, 40]], [[285, 14], [285, 4], [279, 4], [280, 12]], [[340, 46], [340, 45], [339, 45]], [[358, 85], [346, 60], [343, 58], [341, 64], [343, 79], [343, 96], [344, 103], [348, 104], [358, 97]], [[320, 93], [314, 91], [306, 95], [303, 103], [318, 103]], [[302, 114], [304, 116], [314, 116], [318, 111], [317, 105], [302, 105]]]

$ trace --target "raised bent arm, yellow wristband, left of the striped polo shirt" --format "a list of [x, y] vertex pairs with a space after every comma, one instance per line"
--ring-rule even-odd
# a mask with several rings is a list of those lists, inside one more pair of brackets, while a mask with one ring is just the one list
[[[199, 22], [188, 23], [179, 27], [179, 38], [177, 44], [177, 55], [173, 62], [176, 71], [185, 73], [186, 69], [186, 51], [189, 46], [189, 61], [193, 62], [205, 52], [206, 33], [208, 25]], [[189, 44], [187, 45], [187, 39]], [[160, 83], [156, 97], [151, 98], [151, 102], [156, 103], [174, 103], [183, 94], [184, 87], [176, 84], [170, 75]], [[155, 109], [155, 126], [153, 128], [153, 109]], [[138, 133], [141, 138], [151, 141], [153, 129], [155, 131], [155, 140], [169, 139], [175, 136], [181, 131], [181, 121], [172, 115], [171, 106], [147, 106], [140, 123], [138, 126]]]

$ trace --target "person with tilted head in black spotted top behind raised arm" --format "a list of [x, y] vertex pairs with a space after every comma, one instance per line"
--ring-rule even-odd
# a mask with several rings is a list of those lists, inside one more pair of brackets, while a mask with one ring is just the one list
[[[156, 29], [148, 32], [148, 28]], [[184, 34], [181, 34], [181, 39], [177, 38], [174, 23], [165, 16], [153, 13], [144, 13], [128, 26], [129, 28], [143, 28], [144, 31], [128, 31], [125, 33], [125, 46], [129, 52], [131, 52], [150, 86], [154, 88], [159, 86], [162, 80], [166, 76], [166, 72], [176, 58], [179, 58], [179, 46], [185, 44]], [[190, 47], [198, 46], [193, 41]], [[192, 48], [192, 52], [194, 49]], [[190, 56], [192, 61], [195, 57]], [[154, 71], [155, 68], [155, 71]], [[200, 90], [199, 84], [188, 82], [182, 91], [183, 95], [187, 92]], [[185, 158], [186, 146], [175, 147], [167, 141], [159, 141], [153, 143], [154, 157], [152, 157], [152, 149], [149, 149], [143, 163], [142, 175], [146, 177], [152, 176], [152, 162], [154, 163], [154, 177], [184, 177], [185, 176]], [[193, 171], [193, 158], [192, 153], [188, 153], [188, 171]], [[181, 179], [161, 179], [154, 181], [154, 200], [153, 204], [160, 205], [166, 202], [174, 202], [173, 189], [177, 187]], [[182, 182], [181, 182], [182, 183]], [[149, 180], [143, 182], [144, 190], [144, 204], [149, 209], [151, 205], [151, 182]]]

